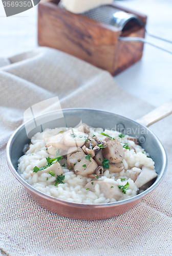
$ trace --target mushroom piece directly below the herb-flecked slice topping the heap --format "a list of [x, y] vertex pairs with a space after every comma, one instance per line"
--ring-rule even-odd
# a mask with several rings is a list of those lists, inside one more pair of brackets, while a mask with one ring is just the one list
[[80, 147], [71, 147], [67, 155], [68, 169], [74, 169], [77, 162], [80, 162], [81, 158], [85, 156], [83, 150]]

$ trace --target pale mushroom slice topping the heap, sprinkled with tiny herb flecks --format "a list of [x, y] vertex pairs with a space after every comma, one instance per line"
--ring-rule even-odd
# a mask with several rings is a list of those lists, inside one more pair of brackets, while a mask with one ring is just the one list
[[66, 146], [83, 146], [85, 143], [85, 140], [87, 140], [88, 134], [74, 131], [74, 133], [71, 133], [71, 131], [66, 132], [63, 141]]

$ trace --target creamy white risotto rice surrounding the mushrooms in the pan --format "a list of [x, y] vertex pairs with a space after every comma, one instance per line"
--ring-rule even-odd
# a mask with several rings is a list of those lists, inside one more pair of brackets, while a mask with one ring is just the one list
[[[63, 128], [47, 129], [44, 132], [37, 133], [32, 137], [30, 149], [18, 160], [18, 173], [20, 176], [42, 193], [65, 201], [84, 204], [115, 202], [115, 199], [110, 200], [105, 198], [103, 194], [100, 194], [98, 184], [95, 186], [95, 193], [85, 189], [85, 185], [93, 179], [76, 175], [67, 167], [62, 167], [63, 175], [65, 175], [65, 180], [63, 180], [63, 182], [65, 182], [65, 184], [58, 184], [57, 186], [54, 186], [56, 177], [46, 173], [45, 170], [40, 170], [39, 173], [33, 173], [33, 168], [35, 166], [41, 167], [47, 165], [46, 158], [49, 157], [49, 154], [46, 151], [45, 138], [57, 135], [62, 129]], [[103, 129], [92, 128], [90, 135], [97, 135], [98, 132], [102, 131]], [[106, 170], [103, 176], [98, 180], [114, 183], [114, 185], [125, 185], [128, 182], [130, 185], [126, 190], [126, 194], [122, 194], [120, 201], [132, 198], [137, 195], [137, 191], [139, 189], [131, 179], [131, 169], [134, 168], [136, 172], [141, 172], [140, 168], [143, 165], [145, 167], [154, 169], [154, 162], [151, 158], [147, 157], [148, 154], [146, 154], [141, 146], [136, 145], [134, 141], [127, 140], [126, 136], [124, 138], [119, 138], [118, 136], [120, 133], [112, 130], [105, 130], [104, 133], [118, 139], [121, 143], [128, 143], [129, 146], [133, 146], [136, 153], [134, 150], [126, 150], [124, 159], [122, 161], [124, 164], [124, 169], [122, 172], [109, 174], [109, 170]], [[61, 159], [59, 163], [61, 165], [65, 163], [65, 166], [67, 166], [67, 160], [65, 158]], [[121, 178], [126, 179], [121, 181]]]

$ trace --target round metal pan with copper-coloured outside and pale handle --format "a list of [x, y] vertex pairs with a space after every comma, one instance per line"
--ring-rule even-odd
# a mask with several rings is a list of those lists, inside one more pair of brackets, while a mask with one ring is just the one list
[[[27, 137], [25, 125], [21, 125], [11, 136], [6, 149], [6, 156], [8, 166], [15, 176], [15, 178], [25, 187], [28, 194], [42, 207], [54, 212], [55, 214], [65, 216], [72, 219], [81, 220], [100, 220], [106, 218], [112, 218], [126, 212], [127, 210], [134, 207], [139, 201], [143, 199], [148, 193], [155, 189], [162, 178], [165, 175], [167, 167], [167, 156], [165, 150], [159, 141], [159, 139], [149, 130], [146, 126], [154, 123], [157, 120], [172, 113], [172, 101], [162, 105], [160, 108], [154, 110], [148, 115], [144, 116], [138, 121], [120, 116], [111, 112], [93, 110], [93, 109], [65, 109], [63, 110], [63, 115], [68, 119], [70, 126], [75, 125], [73, 123], [73, 116], [81, 118], [82, 122], [87, 123], [93, 127], [102, 127], [103, 129], [117, 129], [122, 132], [126, 132], [127, 129], [131, 129], [131, 136], [137, 136], [140, 140], [141, 146], [146, 152], [150, 154], [150, 157], [155, 162], [155, 169], [158, 177], [154, 184], [143, 191], [141, 194], [127, 200], [114, 202], [114, 203], [103, 203], [103, 204], [81, 204], [73, 203], [68, 201], [63, 201], [46, 194], [33, 188], [26, 181], [24, 181], [17, 173], [17, 161], [20, 156], [23, 155], [23, 147], [30, 140]], [[48, 113], [48, 117], [56, 116], [58, 111]], [[46, 114], [47, 115], [47, 114]], [[39, 121], [41, 119], [45, 120], [45, 115], [39, 116]], [[143, 124], [141, 124], [143, 123]], [[29, 122], [28, 122], [29, 124]], [[42, 125], [42, 128], [47, 127], [53, 129], [57, 125], [63, 126], [62, 120], [53, 120]], [[146, 125], [146, 126], [144, 126]], [[122, 130], [121, 130], [122, 129]], [[33, 135], [39, 131], [39, 127], [36, 127], [32, 133]], [[140, 133], [142, 131], [142, 133]], [[144, 132], [144, 133], [143, 133]], [[32, 134], [31, 134], [32, 135]]]

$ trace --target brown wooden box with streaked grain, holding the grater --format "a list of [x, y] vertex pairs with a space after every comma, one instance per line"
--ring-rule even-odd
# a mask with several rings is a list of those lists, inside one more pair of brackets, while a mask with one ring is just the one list
[[[119, 31], [82, 15], [73, 14], [58, 6], [59, 0], [42, 0], [38, 5], [38, 44], [58, 49], [90, 62], [98, 68], [117, 75], [142, 57], [142, 42], [124, 42], [119, 36], [144, 38], [145, 29], [138, 25]], [[146, 16], [111, 5], [139, 16]]]

